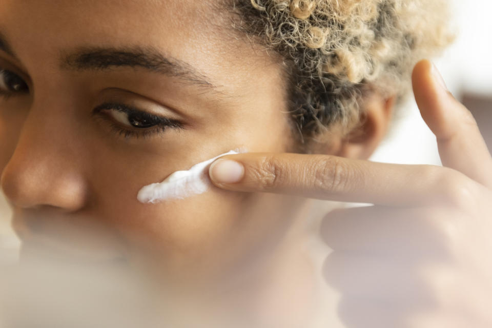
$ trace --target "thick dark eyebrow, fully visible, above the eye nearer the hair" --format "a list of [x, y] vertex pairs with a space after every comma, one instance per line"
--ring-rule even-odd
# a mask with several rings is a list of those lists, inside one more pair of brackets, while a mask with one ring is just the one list
[[144, 68], [150, 72], [176, 77], [187, 84], [216, 89], [207, 76], [199, 73], [190, 64], [165, 56], [153, 48], [85, 47], [60, 57], [60, 68], [66, 70], [104, 71], [118, 67]]

